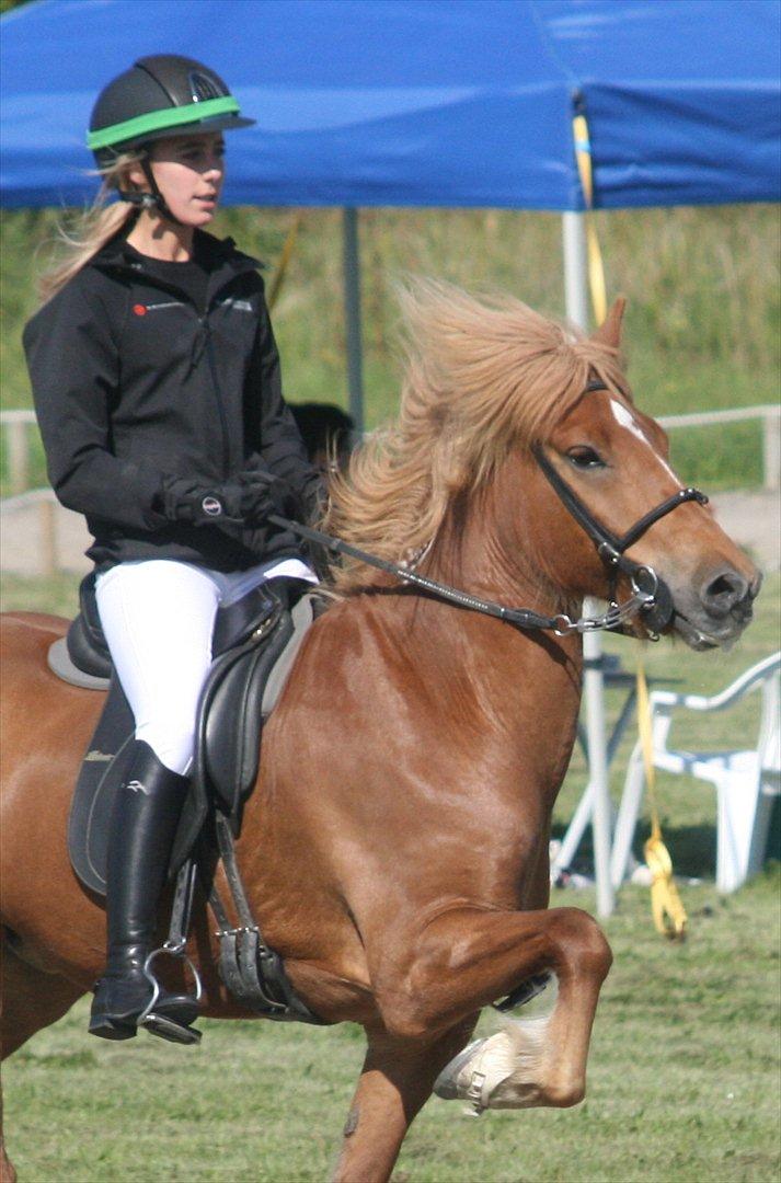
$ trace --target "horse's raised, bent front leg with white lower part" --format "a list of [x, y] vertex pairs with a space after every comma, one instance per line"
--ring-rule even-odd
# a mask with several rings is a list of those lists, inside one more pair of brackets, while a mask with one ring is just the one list
[[[576, 1105], [599, 991], [611, 967], [607, 940], [579, 909], [440, 913], [418, 936], [406, 965], [382, 958], [376, 998], [386, 1027], [407, 1039], [432, 1039], [537, 974], [553, 972], [559, 996], [546, 1019], [491, 1036], [448, 1067], [440, 1095], [479, 1107]], [[394, 940], [396, 950], [402, 948]]]

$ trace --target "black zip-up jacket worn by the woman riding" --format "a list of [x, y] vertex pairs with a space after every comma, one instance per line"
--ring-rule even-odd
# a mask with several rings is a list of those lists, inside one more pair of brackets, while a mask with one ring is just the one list
[[205, 315], [118, 237], [25, 327], [50, 480], [86, 515], [98, 567], [179, 558], [240, 570], [299, 554], [273, 526], [231, 536], [155, 509], [167, 476], [209, 486], [260, 464], [298, 493], [316, 481], [282, 397], [257, 261], [198, 231], [195, 247], [209, 273]]

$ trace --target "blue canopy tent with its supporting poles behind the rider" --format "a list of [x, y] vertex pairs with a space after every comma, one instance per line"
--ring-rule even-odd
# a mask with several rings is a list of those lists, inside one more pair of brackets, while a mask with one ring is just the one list
[[[136, 57], [206, 58], [230, 79], [258, 124], [231, 141], [225, 200], [347, 208], [359, 416], [359, 206], [561, 211], [567, 311], [586, 324], [575, 114], [596, 208], [781, 196], [777, 0], [37, 0], [1, 31], [5, 206], [89, 199], [91, 104]], [[607, 912], [598, 664], [586, 681]]]

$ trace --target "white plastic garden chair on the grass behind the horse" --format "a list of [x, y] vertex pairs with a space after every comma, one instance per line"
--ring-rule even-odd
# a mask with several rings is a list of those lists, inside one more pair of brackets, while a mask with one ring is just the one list
[[[721, 694], [676, 694], [654, 690], [650, 694], [653, 763], [667, 772], [683, 772], [716, 787], [716, 886], [731, 892], [762, 867], [773, 797], [781, 793], [781, 730], [779, 726], [779, 671], [781, 653], [774, 653], [741, 674]], [[673, 711], [723, 711], [749, 691], [761, 691], [762, 709], [754, 748], [743, 751], [676, 751], [667, 746]], [[624, 796], [615, 822], [611, 858], [614, 886], [622, 881], [632, 855], [645, 768], [638, 742], [630, 756]]]

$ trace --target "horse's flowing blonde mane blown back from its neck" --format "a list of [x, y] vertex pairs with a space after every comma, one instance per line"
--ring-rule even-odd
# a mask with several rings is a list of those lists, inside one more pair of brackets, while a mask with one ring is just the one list
[[[402, 562], [435, 537], [452, 498], [491, 479], [514, 446], [544, 440], [598, 375], [619, 389], [617, 350], [510, 296], [476, 299], [431, 279], [399, 289], [406, 347], [394, 425], [334, 479], [327, 528]], [[334, 590], [382, 581], [348, 561]]]

